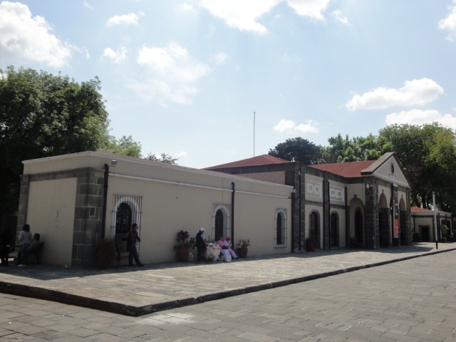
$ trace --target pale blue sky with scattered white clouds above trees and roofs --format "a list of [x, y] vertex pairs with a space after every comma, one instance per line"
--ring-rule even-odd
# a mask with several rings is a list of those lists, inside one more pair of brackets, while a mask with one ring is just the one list
[[455, 62], [456, 0], [0, 2], [0, 68], [98, 76], [110, 133], [187, 167], [456, 129]]

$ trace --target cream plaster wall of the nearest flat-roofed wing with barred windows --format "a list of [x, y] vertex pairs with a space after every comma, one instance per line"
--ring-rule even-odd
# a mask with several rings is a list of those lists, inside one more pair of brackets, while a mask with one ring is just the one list
[[[204, 227], [208, 239], [214, 240], [214, 205], [231, 206], [233, 183], [234, 249], [239, 239], [250, 239], [251, 256], [291, 252], [292, 187], [287, 185], [100, 152], [26, 161], [24, 175], [90, 167], [102, 176], [111, 160], [116, 164], [109, 170], [105, 237], [115, 234], [115, 196], [140, 197], [142, 209], [136, 223], [143, 263], [175, 261], [173, 247], [181, 229], [195, 237]], [[30, 182], [26, 221], [45, 241], [44, 264], [71, 264], [76, 188], [76, 178]], [[285, 247], [275, 246], [278, 210], [285, 214]]]

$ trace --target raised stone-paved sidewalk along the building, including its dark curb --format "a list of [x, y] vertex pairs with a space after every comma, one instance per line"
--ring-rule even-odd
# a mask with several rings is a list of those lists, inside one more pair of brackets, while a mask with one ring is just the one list
[[118, 269], [31, 264], [0, 268], [0, 292], [140, 316], [456, 249], [456, 243], [247, 257], [230, 263], [167, 263]]

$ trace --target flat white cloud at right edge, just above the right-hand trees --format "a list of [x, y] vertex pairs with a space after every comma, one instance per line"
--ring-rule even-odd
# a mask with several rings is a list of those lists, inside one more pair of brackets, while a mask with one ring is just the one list
[[442, 114], [438, 110], [413, 109], [386, 115], [387, 125], [424, 125], [435, 122], [456, 130], [456, 118], [451, 114]]

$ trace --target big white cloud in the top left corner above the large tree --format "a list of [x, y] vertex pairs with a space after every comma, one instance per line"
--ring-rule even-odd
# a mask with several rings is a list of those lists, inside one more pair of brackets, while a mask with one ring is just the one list
[[31, 16], [28, 6], [19, 2], [0, 3], [0, 54], [60, 68], [71, 58], [71, 44], [52, 33], [42, 16]]

